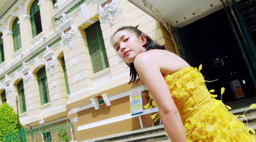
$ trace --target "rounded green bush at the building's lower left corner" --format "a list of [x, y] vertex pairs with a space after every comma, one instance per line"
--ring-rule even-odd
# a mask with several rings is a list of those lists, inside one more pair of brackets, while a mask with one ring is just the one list
[[[4, 141], [4, 133], [19, 131], [18, 117], [12, 107], [6, 103], [0, 105], [0, 141]], [[22, 125], [20, 125], [22, 127]]]

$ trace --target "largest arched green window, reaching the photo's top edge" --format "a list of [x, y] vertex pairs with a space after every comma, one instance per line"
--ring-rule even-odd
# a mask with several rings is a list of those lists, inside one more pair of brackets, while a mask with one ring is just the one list
[[33, 38], [42, 32], [42, 24], [40, 17], [40, 9], [38, 6], [38, 0], [35, 0], [30, 9], [30, 22], [32, 28]]

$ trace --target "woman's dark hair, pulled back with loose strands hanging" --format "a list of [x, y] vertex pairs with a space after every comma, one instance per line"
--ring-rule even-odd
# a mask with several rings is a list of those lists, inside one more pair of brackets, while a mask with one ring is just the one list
[[[138, 25], [136, 27], [134, 27], [134, 26], [124, 26], [124, 27], [120, 27], [119, 29], [117, 29], [116, 32], [119, 32], [119, 31], [122, 31], [124, 29], [127, 29], [129, 31], [134, 32], [139, 37], [141, 34], [144, 34], [144, 33], [141, 32], [137, 27], [138, 27]], [[116, 32], [111, 37], [111, 40], [110, 40], [111, 45], [113, 45], [113, 38], [114, 38]], [[162, 50], [166, 49], [165, 45], [159, 45], [159, 43], [157, 43], [156, 41], [152, 40], [149, 36], [147, 36], [147, 34], [145, 34], [145, 35], [147, 37], [146, 38], [147, 39], [147, 43], [145, 43], [145, 45], [144, 45], [146, 51], [152, 50], [152, 49], [162, 49]], [[130, 83], [138, 83], [140, 81], [140, 75], [136, 71], [136, 69], [134, 67], [134, 63], [129, 63], [129, 64], [127, 64], [127, 66], [130, 67], [130, 77], [131, 77], [131, 80], [130, 80], [129, 84]]]

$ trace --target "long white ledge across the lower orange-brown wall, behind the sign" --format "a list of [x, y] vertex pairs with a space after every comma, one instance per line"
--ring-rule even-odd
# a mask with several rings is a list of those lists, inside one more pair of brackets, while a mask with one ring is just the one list
[[[154, 112], [158, 112], [158, 108], [150, 108], [147, 110], [143, 110], [143, 113], [141, 113], [140, 115], [147, 115], [149, 113], [154, 113]], [[102, 121], [98, 121], [98, 122], [93, 122], [91, 124], [86, 124], [86, 125], [81, 125], [79, 127], [77, 127], [77, 131], [82, 131], [82, 130], [86, 130], [86, 129], [90, 129], [93, 127], [99, 127], [101, 125], [106, 125], [106, 124], [111, 124], [111, 123], [115, 123], [115, 122], [119, 122], [122, 120], [127, 120], [130, 118], [134, 118], [134, 117], [138, 117], [139, 115], [131, 115], [131, 113], [128, 113], [126, 115], [121, 115], [118, 117], [113, 117], [113, 118], [109, 118], [106, 120], [102, 120]]]

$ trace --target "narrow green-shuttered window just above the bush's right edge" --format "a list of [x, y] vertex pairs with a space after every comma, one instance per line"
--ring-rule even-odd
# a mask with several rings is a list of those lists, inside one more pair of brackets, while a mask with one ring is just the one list
[[19, 94], [20, 113], [24, 113], [26, 112], [26, 99], [24, 94], [23, 80], [20, 80], [17, 87], [18, 87], [18, 94]]

